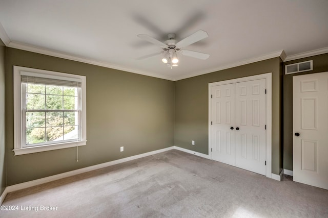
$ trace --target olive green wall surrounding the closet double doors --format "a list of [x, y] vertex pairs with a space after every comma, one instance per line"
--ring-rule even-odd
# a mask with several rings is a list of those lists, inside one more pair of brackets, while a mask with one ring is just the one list
[[[280, 58], [277, 57], [176, 81], [175, 145], [208, 154], [209, 83], [272, 72], [272, 173], [279, 174], [282, 168], [280, 65]], [[192, 146], [192, 140], [195, 140], [195, 146]]]

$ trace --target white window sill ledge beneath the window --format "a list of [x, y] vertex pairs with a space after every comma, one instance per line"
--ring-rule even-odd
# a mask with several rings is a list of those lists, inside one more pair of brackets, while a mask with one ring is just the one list
[[45, 152], [45, 151], [52, 151], [57, 149], [66, 149], [78, 146], [85, 146], [87, 144], [87, 140], [82, 141], [73, 141], [73, 142], [66, 142], [66, 143], [58, 143], [58, 144], [50, 144], [48, 146], [37, 146], [37, 147], [28, 147], [28, 148], [19, 148], [13, 149], [14, 155], [22, 155], [22, 154], [31, 154], [36, 152]]

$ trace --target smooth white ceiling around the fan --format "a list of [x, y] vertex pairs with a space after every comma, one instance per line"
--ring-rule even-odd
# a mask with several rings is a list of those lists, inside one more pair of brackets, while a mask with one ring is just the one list
[[[179, 56], [173, 69], [160, 56], [136, 60], [161, 51], [140, 33], [165, 41], [197, 30], [209, 37], [186, 49], [207, 60]], [[1, 0], [0, 37], [9, 47], [178, 80], [283, 51], [290, 59], [328, 52], [328, 1]]]

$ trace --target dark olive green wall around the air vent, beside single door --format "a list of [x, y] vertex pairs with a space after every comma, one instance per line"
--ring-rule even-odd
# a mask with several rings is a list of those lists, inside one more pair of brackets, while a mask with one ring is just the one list
[[293, 76], [328, 71], [328, 53], [293, 61], [288, 64], [313, 60], [313, 70], [283, 75], [283, 168], [293, 170]]

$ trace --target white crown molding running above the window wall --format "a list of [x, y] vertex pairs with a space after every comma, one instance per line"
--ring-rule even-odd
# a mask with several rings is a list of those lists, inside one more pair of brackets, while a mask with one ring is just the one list
[[53, 57], [57, 57], [57, 58], [64, 58], [64, 59], [68, 59], [68, 60], [72, 60], [72, 61], [78, 61], [78, 62], [93, 64], [93, 65], [97, 65], [97, 66], [103, 66], [103, 67], [107, 67], [107, 68], [112, 68], [112, 69], [117, 69], [117, 70], [122, 70], [122, 71], [127, 71], [127, 72], [133, 72], [135, 74], [145, 75], [145, 76], [149, 76], [149, 77], [156, 77], [156, 78], [160, 78], [160, 79], [174, 81], [174, 78], [171, 78], [171, 77], [161, 76], [161, 75], [157, 75], [157, 74], [151, 74], [146, 71], [135, 70], [135, 69], [128, 68], [128, 67], [117, 66], [117, 65], [110, 64], [110, 63], [106, 63], [106, 62], [90, 60], [87, 58], [77, 57], [77, 56], [60, 53], [60, 52], [49, 50], [49, 49], [43, 49], [41, 47], [36, 47], [36, 46], [27, 45], [27, 44], [23, 44], [23, 43], [11, 41], [7, 46], [12, 47], [13, 49], [20, 49], [20, 50], [25, 50], [28, 52], [35, 52], [35, 53], [49, 55], [49, 56], [53, 56]]

